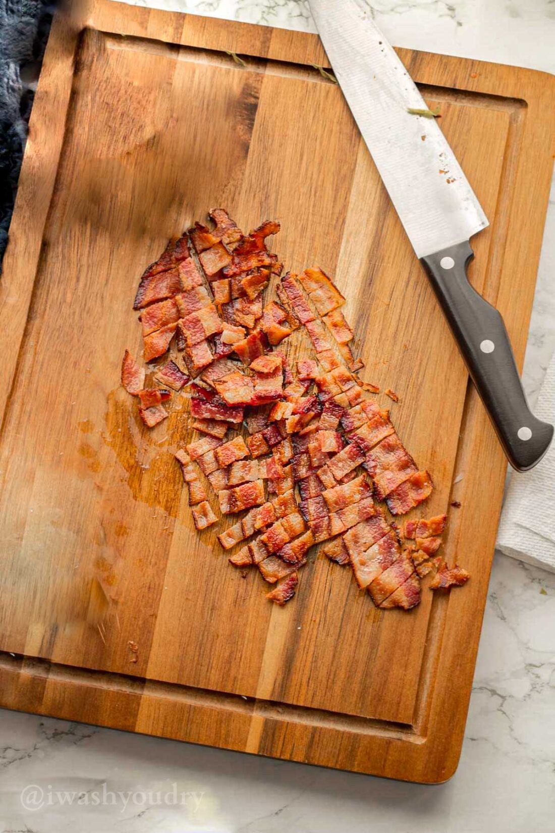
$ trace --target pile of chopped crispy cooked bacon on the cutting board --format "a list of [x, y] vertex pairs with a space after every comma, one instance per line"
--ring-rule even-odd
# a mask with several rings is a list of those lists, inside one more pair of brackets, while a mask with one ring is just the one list
[[222, 208], [210, 217], [143, 273], [134, 307], [153, 363], [126, 351], [121, 365], [145, 426], [169, 419], [185, 446], [175, 457], [196, 529], [228, 516], [221, 550], [241, 577], [250, 568], [273, 585], [278, 606], [321, 543], [380, 610], [418, 605], [429, 574], [433, 588], [462, 585], [468, 573], [438, 554], [446, 515], [394, 521], [434, 484], [370, 397], [379, 387], [358, 376], [344, 295], [319, 267], [281, 277], [267, 246], [278, 222], [245, 234]]

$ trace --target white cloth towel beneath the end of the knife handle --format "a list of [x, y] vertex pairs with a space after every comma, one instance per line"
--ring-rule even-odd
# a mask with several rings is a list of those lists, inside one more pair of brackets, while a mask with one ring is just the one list
[[[534, 409], [555, 416], [555, 354]], [[501, 513], [497, 547], [507, 556], [555, 572], [555, 441], [532, 471], [513, 472]]]

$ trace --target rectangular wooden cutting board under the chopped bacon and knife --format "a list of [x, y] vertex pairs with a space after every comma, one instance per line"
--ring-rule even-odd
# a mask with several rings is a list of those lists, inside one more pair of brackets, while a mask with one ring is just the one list
[[[471, 279], [522, 364], [553, 77], [399, 54], [491, 221]], [[325, 53], [300, 32], [104, 0], [57, 16], [0, 282], [0, 705], [444, 781], [505, 461], [341, 92], [313, 64]], [[449, 512], [445, 556], [472, 573], [462, 590], [424, 587], [414, 611], [379, 612], [316, 556], [280, 609], [212, 531], [196, 535], [171, 456], [186, 400], [148, 432], [119, 372], [124, 349], [141, 349], [143, 267], [214, 206], [242, 227], [279, 219], [286, 266], [336, 277], [362, 375], [399, 393], [392, 418], [434, 476], [425, 514]]]

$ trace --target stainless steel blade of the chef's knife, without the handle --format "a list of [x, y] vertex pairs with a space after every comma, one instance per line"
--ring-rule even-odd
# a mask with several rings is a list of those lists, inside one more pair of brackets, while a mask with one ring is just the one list
[[488, 226], [435, 118], [364, 0], [309, 0], [325, 51], [418, 257]]

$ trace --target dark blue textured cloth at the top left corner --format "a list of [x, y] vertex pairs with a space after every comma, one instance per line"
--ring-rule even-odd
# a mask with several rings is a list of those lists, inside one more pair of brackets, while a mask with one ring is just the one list
[[53, 8], [52, 0], [0, 0], [0, 262]]

